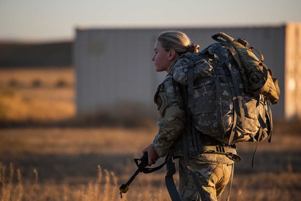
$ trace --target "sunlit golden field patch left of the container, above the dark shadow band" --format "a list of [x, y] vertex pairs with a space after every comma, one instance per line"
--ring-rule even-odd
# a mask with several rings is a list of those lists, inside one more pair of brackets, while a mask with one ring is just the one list
[[72, 68], [1, 69], [0, 120], [60, 121], [75, 114]]

